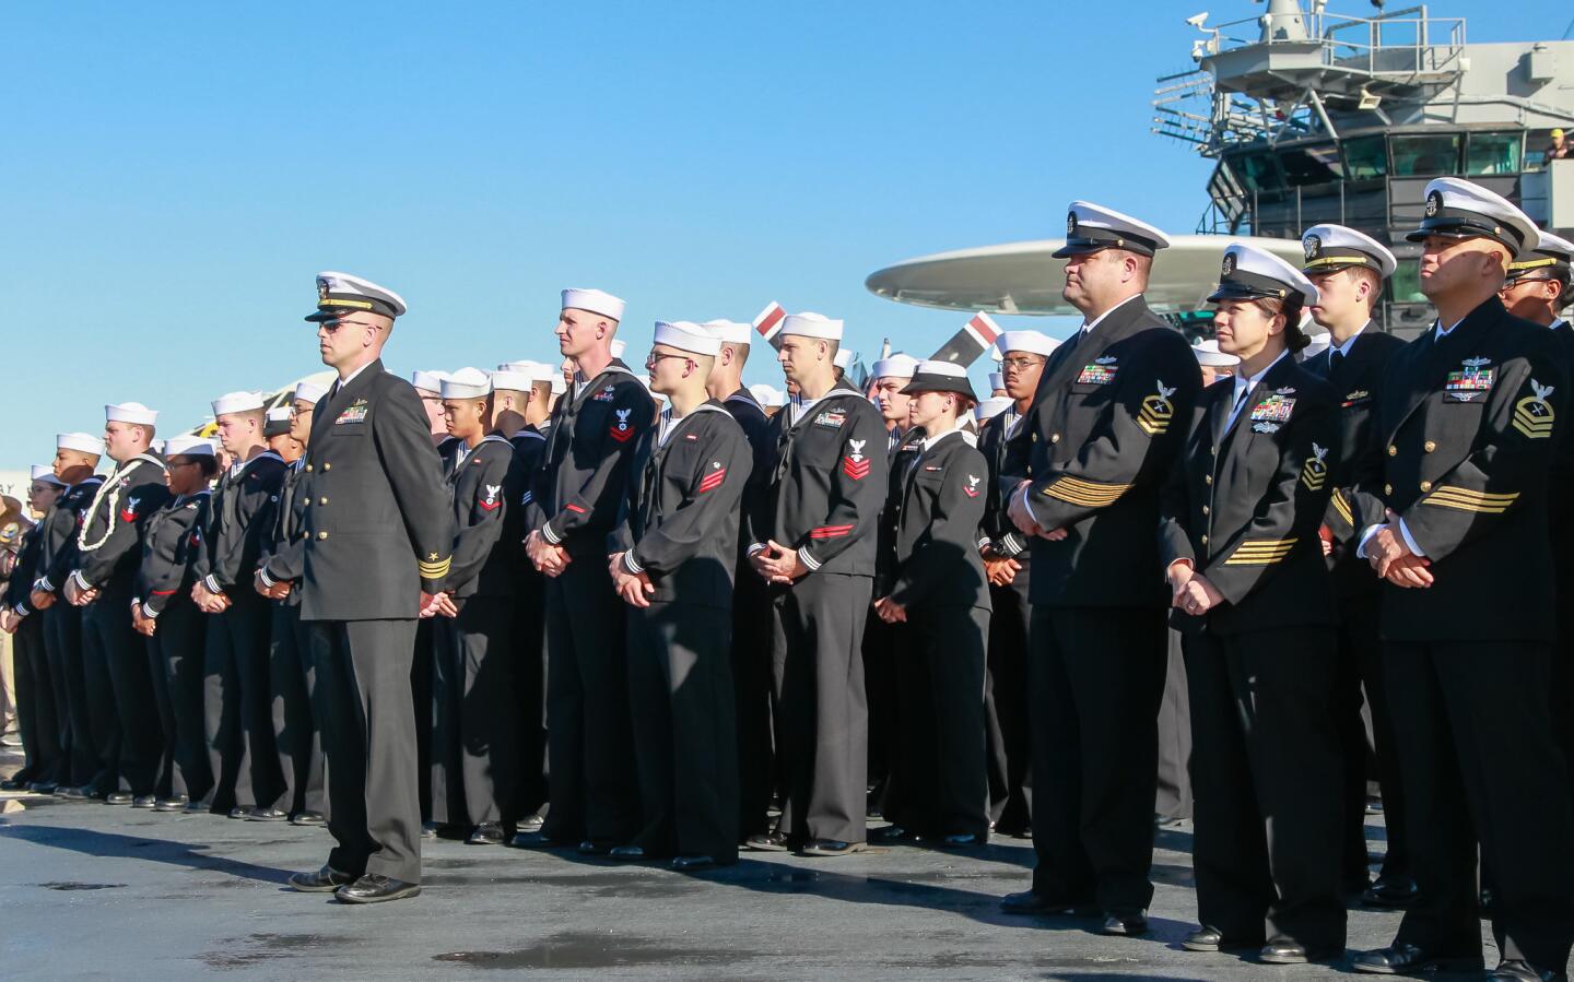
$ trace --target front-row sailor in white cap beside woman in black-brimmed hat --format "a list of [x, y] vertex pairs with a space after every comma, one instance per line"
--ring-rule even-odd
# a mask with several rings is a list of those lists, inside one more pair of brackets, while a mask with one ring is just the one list
[[844, 856], [866, 842], [869, 714], [856, 648], [869, 615], [875, 526], [886, 491], [885, 426], [837, 384], [842, 321], [782, 319], [778, 360], [796, 389], [771, 420], [776, 460], [748, 516], [749, 562], [771, 585], [778, 828], [749, 848]]

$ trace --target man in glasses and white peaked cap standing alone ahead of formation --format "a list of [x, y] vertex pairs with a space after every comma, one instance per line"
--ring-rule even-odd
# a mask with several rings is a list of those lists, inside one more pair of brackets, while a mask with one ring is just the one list
[[409, 672], [416, 618], [436, 611], [453, 530], [420, 397], [382, 370], [405, 301], [343, 272], [320, 272], [316, 293], [305, 319], [338, 378], [312, 414], [299, 584], [337, 845], [290, 886], [378, 903], [420, 892]]

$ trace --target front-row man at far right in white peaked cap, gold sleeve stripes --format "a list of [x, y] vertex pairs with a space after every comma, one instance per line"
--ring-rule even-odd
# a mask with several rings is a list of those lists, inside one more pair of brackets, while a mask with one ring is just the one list
[[[1547, 524], [1568, 362], [1557, 337], [1497, 296], [1516, 253], [1536, 246], [1519, 208], [1437, 178], [1407, 238], [1421, 242], [1421, 291], [1439, 319], [1388, 362], [1382, 474], [1350, 505], [1358, 554], [1387, 581], [1382, 661], [1417, 900], [1393, 944], [1355, 968], [1480, 968], [1480, 842], [1502, 955], [1492, 977], [1563, 977], [1574, 814], [1547, 705]], [[1536, 788], [1530, 807], [1525, 788]]]

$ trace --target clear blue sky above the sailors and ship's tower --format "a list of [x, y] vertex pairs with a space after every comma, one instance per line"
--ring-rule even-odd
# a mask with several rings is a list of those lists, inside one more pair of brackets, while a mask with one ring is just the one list
[[[1201, 9], [1262, 8], [9, 5], [0, 469], [101, 430], [105, 401], [173, 433], [212, 397], [320, 370], [301, 319], [320, 269], [409, 301], [386, 351], [401, 373], [556, 360], [563, 286], [628, 299], [633, 357], [656, 318], [770, 301], [845, 318], [866, 356], [881, 337], [927, 354], [966, 315], [877, 299], [867, 274], [1055, 236], [1073, 197], [1193, 230], [1209, 162], [1152, 135], [1149, 102], [1190, 68]], [[1571, 16], [1503, 11], [1431, 5], [1470, 41], [1557, 38]], [[746, 381], [781, 375], [756, 357]]]

